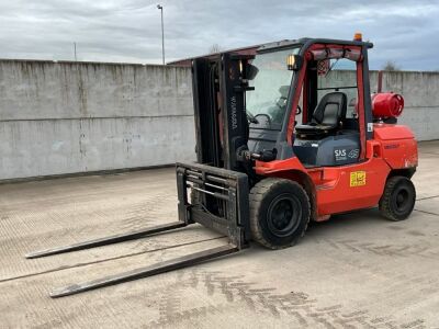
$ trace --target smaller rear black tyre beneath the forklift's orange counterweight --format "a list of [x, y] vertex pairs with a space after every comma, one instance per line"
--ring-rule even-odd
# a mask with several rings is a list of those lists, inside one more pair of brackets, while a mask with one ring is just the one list
[[380, 200], [380, 213], [390, 220], [404, 220], [412, 214], [415, 201], [416, 190], [412, 181], [402, 175], [391, 177]]

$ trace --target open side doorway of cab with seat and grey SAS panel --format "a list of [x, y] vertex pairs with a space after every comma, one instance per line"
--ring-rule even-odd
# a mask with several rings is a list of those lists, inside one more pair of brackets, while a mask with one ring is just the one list
[[[330, 48], [327, 53], [330, 54]], [[306, 111], [302, 121], [306, 123], [295, 125], [293, 144], [294, 155], [305, 167], [359, 161], [357, 77], [357, 63], [348, 58], [308, 63], [303, 83], [307, 100], [303, 103]]]

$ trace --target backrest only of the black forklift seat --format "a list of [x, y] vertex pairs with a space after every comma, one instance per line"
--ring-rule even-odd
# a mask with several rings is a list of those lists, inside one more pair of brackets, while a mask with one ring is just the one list
[[313, 121], [317, 124], [338, 126], [346, 117], [347, 102], [344, 92], [335, 91], [325, 94], [313, 113]]

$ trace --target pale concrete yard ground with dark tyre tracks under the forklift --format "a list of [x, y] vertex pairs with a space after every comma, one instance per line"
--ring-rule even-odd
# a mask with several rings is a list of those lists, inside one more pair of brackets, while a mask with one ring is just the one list
[[223, 246], [201, 226], [43, 259], [30, 251], [177, 219], [173, 169], [0, 185], [0, 328], [439, 328], [439, 141], [420, 145], [409, 219], [315, 224], [244, 252], [53, 299], [54, 287]]

